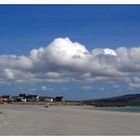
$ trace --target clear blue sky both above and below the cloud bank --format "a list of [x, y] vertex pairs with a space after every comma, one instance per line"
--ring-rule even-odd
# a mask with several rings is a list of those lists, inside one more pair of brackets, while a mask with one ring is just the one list
[[[0, 5], [0, 55], [29, 54], [34, 48], [46, 47], [55, 38], [64, 37], [85, 45], [89, 51], [139, 47], [140, 5]], [[105, 82], [12, 83], [0, 87], [1, 94], [11, 94], [11, 89], [12, 94], [17, 94], [19, 87], [40, 89], [42, 85], [48, 90], [41, 94], [63, 94], [70, 99], [139, 92], [139, 88], [130, 89], [124, 82], [119, 88], [116, 86], [117, 90]]]

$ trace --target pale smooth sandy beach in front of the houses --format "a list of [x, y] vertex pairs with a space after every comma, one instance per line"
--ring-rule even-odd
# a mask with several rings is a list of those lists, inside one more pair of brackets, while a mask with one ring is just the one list
[[0, 135], [140, 135], [140, 113], [91, 108], [0, 105]]

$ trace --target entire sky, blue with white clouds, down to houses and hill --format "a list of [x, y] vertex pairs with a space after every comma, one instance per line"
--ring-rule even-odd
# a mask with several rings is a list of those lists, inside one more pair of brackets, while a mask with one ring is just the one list
[[140, 5], [0, 5], [0, 94], [139, 93], [139, 25]]

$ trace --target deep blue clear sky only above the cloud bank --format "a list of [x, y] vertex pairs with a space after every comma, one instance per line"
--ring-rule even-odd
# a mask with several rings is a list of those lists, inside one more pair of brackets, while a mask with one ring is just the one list
[[[139, 46], [140, 6], [0, 6], [1, 54], [68, 36], [94, 47]], [[8, 41], [7, 41], [8, 40]]]

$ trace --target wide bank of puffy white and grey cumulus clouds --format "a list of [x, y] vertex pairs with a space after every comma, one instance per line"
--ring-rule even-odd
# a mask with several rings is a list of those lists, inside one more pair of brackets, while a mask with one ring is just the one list
[[[94, 47], [93, 47], [94, 48]], [[27, 55], [0, 55], [0, 83], [125, 81], [137, 87], [140, 48], [87, 48], [69, 38], [54, 39]]]

